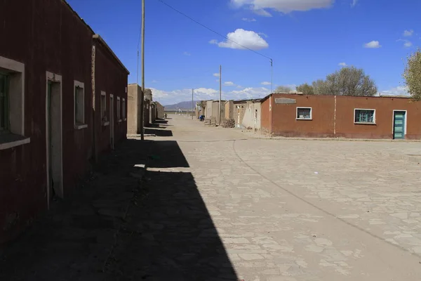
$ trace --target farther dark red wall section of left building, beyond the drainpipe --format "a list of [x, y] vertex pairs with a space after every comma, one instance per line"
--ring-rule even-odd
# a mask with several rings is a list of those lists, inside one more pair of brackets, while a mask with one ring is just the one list
[[109, 95], [114, 96], [114, 144], [126, 139], [127, 120], [117, 119], [117, 97], [120, 97], [120, 115], [123, 118], [123, 98], [126, 100], [127, 117], [127, 72], [116, 62], [111, 53], [100, 41], [95, 40], [95, 109], [98, 108], [98, 115], [95, 115], [95, 143], [97, 153], [107, 151], [110, 146], [111, 126], [102, 126], [100, 117], [101, 91], [105, 91], [107, 100], [107, 120], [109, 121]]

